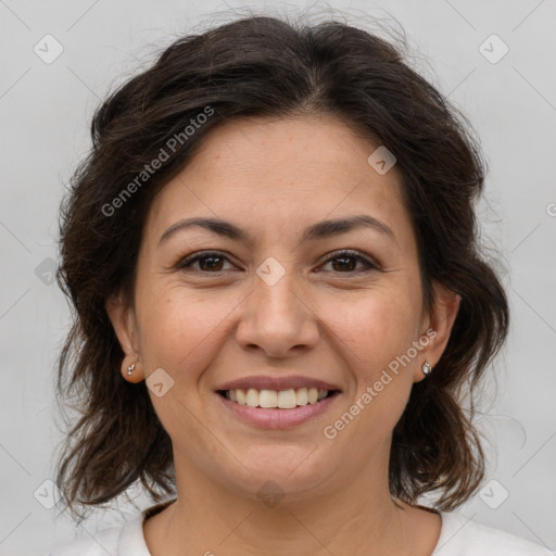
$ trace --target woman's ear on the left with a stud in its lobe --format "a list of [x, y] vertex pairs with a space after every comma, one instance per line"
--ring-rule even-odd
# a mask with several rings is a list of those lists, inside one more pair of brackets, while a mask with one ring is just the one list
[[144, 371], [139, 357], [135, 309], [125, 303], [121, 294], [111, 296], [105, 303], [105, 309], [124, 352], [122, 376], [128, 382], [140, 382], [144, 379]]

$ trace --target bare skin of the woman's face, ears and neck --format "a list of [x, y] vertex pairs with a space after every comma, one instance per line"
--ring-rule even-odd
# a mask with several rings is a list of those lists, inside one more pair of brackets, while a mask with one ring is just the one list
[[[394, 504], [388, 460], [412, 386], [444, 351], [459, 298], [435, 285], [437, 303], [426, 311], [401, 176], [395, 166], [379, 175], [367, 163], [377, 147], [328, 116], [229, 122], [155, 198], [134, 306], [121, 296], [106, 304], [126, 355], [124, 378], [138, 382], [163, 368], [174, 380], [162, 397], [150, 393], [173, 442], [178, 492], [143, 523], [153, 556], [432, 553], [440, 516]], [[301, 241], [307, 226], [353, 214], [381, 220], [395, 239], [357, 228]], [[252, 244], [199, 227], [160, 242], [192, 216], [244, 227]], [[343, 249], [379, 269], [331, 257]], [[227, 258], [212, 262], [216, 270], [206, 260], [175, 268], [204, 250]], [[267, 257], [285, 270], [274, 286], [256, 274]], [[429, 328], [428, 345], [327, 439], [324, 428]], [[214, 392], [261, 374], [321, 378], [342, 393], [308, 422], [262, 430], [231, 417]], [[273, 507], [257, 495], [267, 481], [285, 493]]]

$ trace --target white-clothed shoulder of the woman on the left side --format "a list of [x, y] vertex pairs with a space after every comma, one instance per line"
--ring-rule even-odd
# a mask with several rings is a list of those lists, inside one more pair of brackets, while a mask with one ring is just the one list
[[143, 519], [144, 513], [141, 513], [123, 526], [85, 533], [47, 556], [150, 556], [142, 532]]

